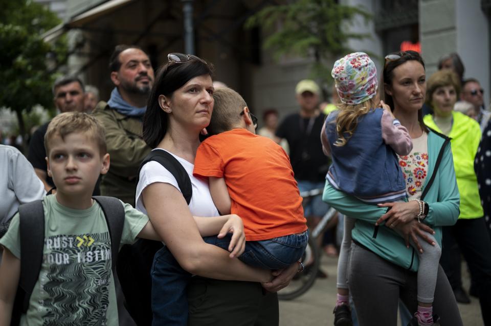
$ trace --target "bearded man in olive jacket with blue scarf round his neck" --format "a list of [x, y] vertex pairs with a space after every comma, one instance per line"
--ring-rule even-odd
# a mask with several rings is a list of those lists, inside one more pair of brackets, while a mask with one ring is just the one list
[[117, 45], [109, 60], [115, 88], [109, 101], [99, 102], [94, 116], [106, 132], [111, 167], [102, 178], [101, 194], [135, 206], [138, 167], [150, 153], [142, 139], [142, 119], [154, 81], [148, 55], [135, 45]]

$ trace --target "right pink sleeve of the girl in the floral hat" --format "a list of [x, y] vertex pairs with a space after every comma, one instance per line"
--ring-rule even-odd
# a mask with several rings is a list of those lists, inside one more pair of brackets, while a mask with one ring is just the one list
[[398, 155], [408, 155], [413, 149], [413, 142], [406, 127], [394, 119], [389, 112], [384, 111], [381, 119], [382, 139], [394, 149]]

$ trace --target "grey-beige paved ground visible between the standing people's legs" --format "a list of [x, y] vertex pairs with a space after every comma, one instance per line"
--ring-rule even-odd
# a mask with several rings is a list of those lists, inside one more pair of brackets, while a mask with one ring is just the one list
[[[295, 300], [280, 301], [280, 326], [331, 326], [333, 324], [332, 308], [336, 301], [336, 265], [336, 258], [323, 257], [322, 268], [329, 277], [324, 280], [317, 279], [307, 293]], [[462, 273], [465, 270], [466, 268], [462, 268]], [[468, 289], [468, 275], [464, 274], [464, 289]], [[471, 297], [471, 301], [470, 305], [459, 304], [463, 324], [482, 326], [479, 302], [474, 297]]]

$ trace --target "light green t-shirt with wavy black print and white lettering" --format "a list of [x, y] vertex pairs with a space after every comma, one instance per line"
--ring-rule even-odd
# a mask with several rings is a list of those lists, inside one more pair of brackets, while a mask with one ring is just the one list
[[[39, 278], [20, 325], [118, 325], [107, 223], [97, 202], [75, 210], [43, 199], [44, 248]], [[133, 243], [148, 217], [124, 204], [121, 244]], [[0, 244], [20, 258], [19, 215]]]

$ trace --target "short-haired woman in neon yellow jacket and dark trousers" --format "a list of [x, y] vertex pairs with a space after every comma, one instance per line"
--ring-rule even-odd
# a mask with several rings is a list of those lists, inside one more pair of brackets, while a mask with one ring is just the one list
[[437, 71], [428, 80], [426, 103], [434, 113], [426, 115], [424, 121], [429, 128], [451, 138], [460, 192], [459, 219], [455, 225], [443, 227], [441, 265], [454, 292], [459, 294], [462, 291], [460, 255], [453, 249], [458, 243], [479, 289], [484, 324], [491, 325], [491, 240], [486, 231], [474, 171], [481, 130], [474, 119], [453, 110], [459, 91], [458, 77], [451, 70]]

